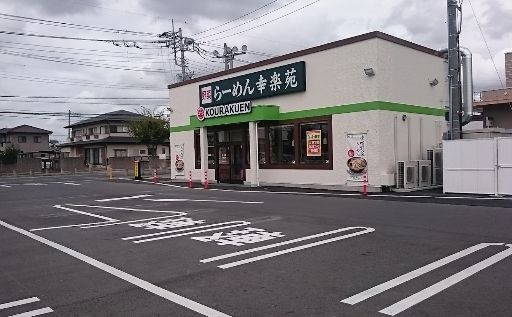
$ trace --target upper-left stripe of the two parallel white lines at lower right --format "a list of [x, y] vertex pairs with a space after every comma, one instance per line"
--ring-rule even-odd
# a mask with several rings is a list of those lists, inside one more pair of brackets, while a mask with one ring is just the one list
[[470, 255], [471, 253], [474, 253], [476, 251], [482, 250], [484, 248], [487, 248], [489, 246], [498, 246], [503, 245], [503, 243], [480, 243], [477, 245], [474, 245], [472, 247], [469, 247], [467, 249], [464, 249], [462, 251], [459, 251], [457, 253], [454, 253], [452, 255], [449, 255], [445, 258], [442, 258], [440, 260], [437, 260], [435, 262], [432, 262], [430, 264], [427, 264], [425, 266], [422, 266], [414, 271], [411, 271], [409, 273], [400, 275], [399, 277], [396, 277], [390, 281], [387, 281], [385, 283], [379, 284], [377, 286], [374, 286], [364, 292], [358, 293], [356, 295], [353, 295], [351, 297], [345, 298], [342, 300], [342, 303], [349, 304], [349, 305], [355, 305], [359, 302], [362, 302], [370, 297], [373, 297], [375, 295], [378, 295], [382, 292], [385, 292], [393, 287], [396, 287], [400, 284], [403, 284], [407, 281], [410, 281], [418, 276], [421, 276], [423, 274], [426, 274], [430, 271], [433, 271], [437, 268], [440, 268], [441, 266], [444, 266], [448, 263], [451, 263], [455, 260], [458, 260], [460, 258], [463, 258], [465, 256]]

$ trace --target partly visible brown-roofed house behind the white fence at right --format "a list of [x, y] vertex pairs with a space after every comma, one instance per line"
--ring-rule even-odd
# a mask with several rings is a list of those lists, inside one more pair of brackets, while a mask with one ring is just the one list
[[505, 77], [506, 88], [482, 91], [475, 102], [483, 128], [512, 129], [512, 52], [505, 54]]

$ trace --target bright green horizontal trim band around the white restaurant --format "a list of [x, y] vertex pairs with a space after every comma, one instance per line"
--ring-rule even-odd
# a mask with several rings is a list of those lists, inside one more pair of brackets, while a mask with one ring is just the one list
[[395, 112], [424, 114], [430, 116], [442, 117], [445, 110], [440, 108], [431, 108], [423, 106], [414, 106], [401, 103], [386, 101], [369, 101], [348, 105], [337, 105], [307, 110], [298, 110], [291, 112], [279, 112], [279, 106], [274, 105], [256, 105], [252, 107], [250, 113], [244, 113], [234, 116], [225, 116], [199, 121], [196, 116], [190, 116], [190, 124], [184, 126], [171, 127], [171, 132], [181, 132], [198, 129], [200, 127], [211, 127], [224, 124], [243, 123], [250, 121], [270, 121], [270, 120], [290, 120], [303, 119], [311, 117], [328, 116], [333, 114], [343, 114], [351, 112], [362, 112], [371, 110], [386, 110]]

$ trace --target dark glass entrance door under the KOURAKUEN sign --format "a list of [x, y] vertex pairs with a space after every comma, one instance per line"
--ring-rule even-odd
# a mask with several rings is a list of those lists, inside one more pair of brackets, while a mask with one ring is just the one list
[[242, 143], [220, 144], [218, 151], [218, 181], [220, 183], [243, 183], [245, 167]]

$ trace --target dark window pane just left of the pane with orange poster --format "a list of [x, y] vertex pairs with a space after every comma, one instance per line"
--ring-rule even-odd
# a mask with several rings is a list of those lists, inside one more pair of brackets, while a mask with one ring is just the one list
[[269, 127], [270, 163], [295, 164], [294, 125]]

